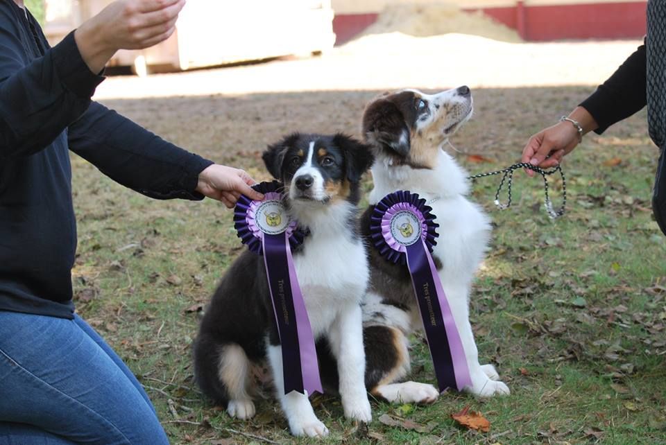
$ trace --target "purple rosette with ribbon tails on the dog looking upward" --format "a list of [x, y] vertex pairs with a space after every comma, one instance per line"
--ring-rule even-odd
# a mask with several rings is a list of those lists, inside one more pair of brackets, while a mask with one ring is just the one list
[[472, 385], [465, 350], [431, 252], [439, 235], [431, 207], [416, 193], [397, 191], [375, 205], [373, 244], [386, 259], [407, 265], [440, 392]]

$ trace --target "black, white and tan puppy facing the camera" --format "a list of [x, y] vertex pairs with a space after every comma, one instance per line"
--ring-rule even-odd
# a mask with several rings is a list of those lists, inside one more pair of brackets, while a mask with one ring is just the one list
[[[343, 134], [294, 133], [268, 146], [263, 159], [284, 184], [291, 217], [308, 232], [293, 261], [314, 337], [336, 359], [335, 383], [345, 416], [370, 421], [360, 306], [369, 271], [355, 229], [359, 180], [373, 163], [370, 147]], [[264, 259], [246, 250], [221, 279], [201, 322], [194, 344], [196, 381], [230, 416], [250, 419], [255, 415], [252, 368], [266, 360], [291, 433], [327, 435], [307, 396], [284, 394]], [[330, 374], [326, 371], [323, 377]]]

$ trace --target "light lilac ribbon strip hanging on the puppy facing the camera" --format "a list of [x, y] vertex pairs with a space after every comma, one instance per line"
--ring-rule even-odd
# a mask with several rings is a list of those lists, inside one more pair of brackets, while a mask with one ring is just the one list
[[311, 396], [314, 392], [324, 393], [319, 378], [319, 363], [317, 361], [317, 351], [314, 344], [314, 335], [310, 320], [305, 308], [305, 300], [298, 286], [298, 277], [296, 277], [296, 268], [293, 265], [291, 256], [291, 247], [289, 246], [289, 235], [285, 236], [285, 245], [287, 246], [287, 265], [289, 266], [289, 279], [291, 281], [291, 294], [293, 296], [293, 310], [296, 314], [296, 329], [298, 330], [298, 346], [300, 351], [300, 368], [303, 378], [303, 388], [307, 390], [307, 395]]

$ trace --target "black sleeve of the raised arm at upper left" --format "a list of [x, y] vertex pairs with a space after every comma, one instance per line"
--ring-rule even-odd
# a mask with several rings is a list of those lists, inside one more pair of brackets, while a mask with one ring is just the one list
[[26, 64], [15, 6], [0, 1], [0, 160], [43, 150], [90, 104], [102, 77], [90, 72], [70, 33]]

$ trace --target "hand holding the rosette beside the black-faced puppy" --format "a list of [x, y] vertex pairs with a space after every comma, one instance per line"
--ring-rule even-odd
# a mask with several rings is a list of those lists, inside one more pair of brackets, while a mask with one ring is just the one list
[[256, 184], [248, 173], [239, 168], [213, 164], [199, 173], [196, 191], [208, 198], [219, 200], [229, 209], [233, 209], [241, 194], [252, 200], [263, 200], [264, 195], [255, 191]]

